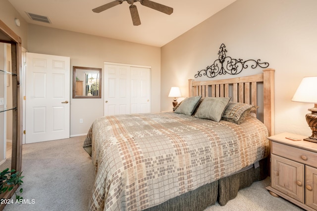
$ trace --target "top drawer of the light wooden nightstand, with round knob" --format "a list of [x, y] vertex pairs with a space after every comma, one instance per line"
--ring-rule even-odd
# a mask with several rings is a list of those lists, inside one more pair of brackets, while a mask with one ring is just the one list
[[272, 154], [317, 167], [317, 154], [310, 151], [272, 142]]

